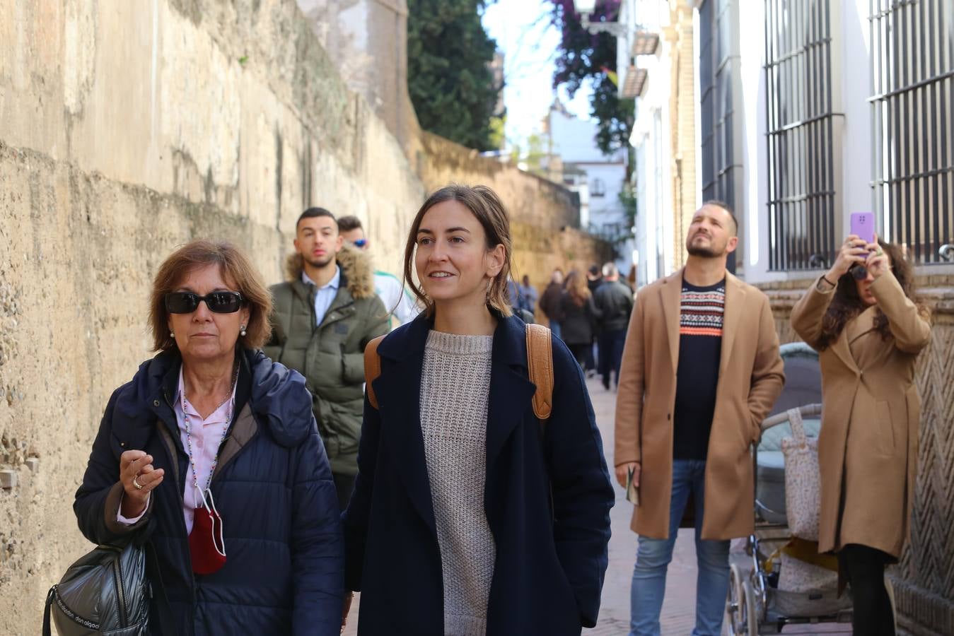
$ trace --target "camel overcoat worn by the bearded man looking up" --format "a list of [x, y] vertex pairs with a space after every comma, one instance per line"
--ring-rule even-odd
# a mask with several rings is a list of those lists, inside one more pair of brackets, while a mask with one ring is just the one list
[[[682, 270], [639, 290], [616, 397], [614, 463], [641, 464], [640, 503], [633, 507], [631, 527], [654, 539], [669, 535], [681, 292]], [[716, 411], [706, 456], [703, 539], [744, 537], [754, 529], [750, 447], [781, 393], [782, 369], [768, 297], [726, 273]]]

